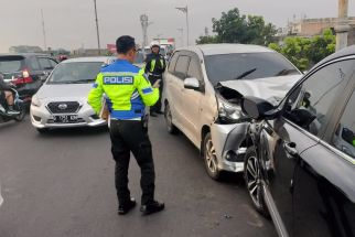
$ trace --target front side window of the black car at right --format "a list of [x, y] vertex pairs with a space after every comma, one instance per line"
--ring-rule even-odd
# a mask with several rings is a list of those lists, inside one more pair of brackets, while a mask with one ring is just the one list
[[321, 138], [354, 63], [354, 60], [336, 62], [306, 78], [288, 98], [284, 117]]

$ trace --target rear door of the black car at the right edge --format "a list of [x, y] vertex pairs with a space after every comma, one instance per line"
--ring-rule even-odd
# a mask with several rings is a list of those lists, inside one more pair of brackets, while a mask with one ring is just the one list
[[[355, 64], [354, 64], [355, 66]], [[294, 236], [355, 236], [355, 77], [348, 103], [334, 115], [334, 126], [318, 146], [304, 152], [294, 180]], [[347, 98], [348, 89], [343, 93]], [[327, 139], [327, 137], [330, 139]]]

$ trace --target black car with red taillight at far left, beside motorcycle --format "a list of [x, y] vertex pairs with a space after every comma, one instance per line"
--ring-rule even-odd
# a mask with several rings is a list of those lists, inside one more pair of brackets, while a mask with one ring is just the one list
[[20, 98], [30, 100], [57, 62], [45, 54], [0, 54], [0, 73], [17, 86]]

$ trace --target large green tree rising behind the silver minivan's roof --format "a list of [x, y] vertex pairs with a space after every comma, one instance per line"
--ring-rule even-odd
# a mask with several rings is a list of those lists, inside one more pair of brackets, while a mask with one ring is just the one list
[[268, 45], [275, 42], [276, 26], [266, 24], [262, 17], [240, 14], [237, 8], [212, 19], [216, 36], [201, 36], [196, 43], [243, 43]]

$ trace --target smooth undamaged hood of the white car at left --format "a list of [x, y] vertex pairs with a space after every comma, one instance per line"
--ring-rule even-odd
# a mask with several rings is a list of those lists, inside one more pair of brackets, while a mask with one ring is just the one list
[[39, 99], [69, 99], [82, 98], [86, 99], [88, 93], [93, 88], [93, 83], [89, 84], [44, 84], [37, 91]]

